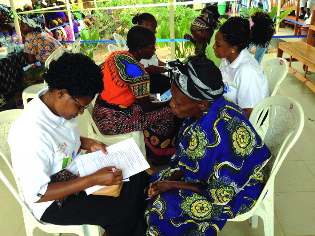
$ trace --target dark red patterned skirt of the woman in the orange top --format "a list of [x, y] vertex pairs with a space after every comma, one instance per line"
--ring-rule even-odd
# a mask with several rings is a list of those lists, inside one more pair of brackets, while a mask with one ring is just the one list
[[98, 97], [93, 119], [104, 134], [143, 130], [147, 151], [155, 161], [169, 160], [176, 151], [175, 117], [169, 107], [143, 112], [137, 103], [123, 107], [106, 103]]

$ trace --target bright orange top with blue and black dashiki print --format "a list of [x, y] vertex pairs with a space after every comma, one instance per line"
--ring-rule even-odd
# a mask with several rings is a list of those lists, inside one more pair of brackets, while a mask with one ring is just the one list
[[111, 53], [103, 65], [102, 100], [129, 107], [136, 99], [150, 96], [150, 76], [144, 66], [128, 51]]

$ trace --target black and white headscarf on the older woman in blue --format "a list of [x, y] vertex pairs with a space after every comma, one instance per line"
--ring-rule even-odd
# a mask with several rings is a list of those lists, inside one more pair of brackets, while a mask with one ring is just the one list
[[213, 101], [224, 93], [221, 71], [207, 58], [196, 57], [185, 65], [176, 59], [168, 62], [165, 68], [171, 70], [180, 92], [190, 98]]

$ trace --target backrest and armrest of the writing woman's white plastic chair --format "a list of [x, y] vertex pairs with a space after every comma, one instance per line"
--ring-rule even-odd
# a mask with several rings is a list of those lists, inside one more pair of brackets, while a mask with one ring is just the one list
[[12, 186], [12, 183], [10, 183], [8, 178], [3, 175], [3, 172], [1, 170], [0, 170], [0, 179], [9, 188], [10, 192], [13, 194], [16, 200], [20, 203], [20, 205], [22, 206], [23, 212], [27, 213], [31, 218], [37, 221], [24, 202], [24, 195], [22, 192], [20, 181], [18, 177], [14, 174], [14, 171], [12, 168], [10, 147], [7, 141], [10, 128], [12, 124], [14, 123], [14, 121], [16, 120], [16, 118], [18, 118], [19, 115], [22, 113], [22, 111], [23, 110], [21, 109], [15, 109], [15, 110], [6, 110], [6, 111], [0, 112], [0, 156], [4, 159], [9, 169], [11, 170], [15, 183], [18, 187], [18, 192]]

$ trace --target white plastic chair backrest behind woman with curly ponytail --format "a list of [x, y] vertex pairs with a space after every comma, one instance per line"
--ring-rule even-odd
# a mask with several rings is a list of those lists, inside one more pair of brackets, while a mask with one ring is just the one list
[[286, 59], [276, 57], [262, 62], [261, 65], [267, 76], [269, 96], [274, 96], [277, 93], [281, 82], [288, 74], [289, 63]]

